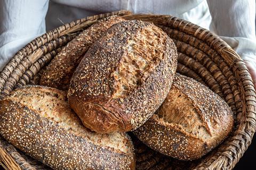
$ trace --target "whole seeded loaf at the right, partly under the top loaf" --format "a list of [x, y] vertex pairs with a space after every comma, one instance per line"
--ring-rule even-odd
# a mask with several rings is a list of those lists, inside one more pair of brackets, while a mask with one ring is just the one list
[[233, 113], [223, 99], [177, 73], [162, 106], [134, 134], [164, 155], [191, 160], [216, 147], [233, 123]]

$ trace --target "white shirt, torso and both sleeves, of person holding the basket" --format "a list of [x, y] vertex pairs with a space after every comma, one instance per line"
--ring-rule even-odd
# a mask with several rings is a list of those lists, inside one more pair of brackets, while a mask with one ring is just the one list
[[1, 0], [0, 70], [18, 50], [45, 30], [62, 22], [118, 10], [171, 14], [210, 29], [223, 36], [256, 68], [254, 0], [54, 0], [50, 3], [49, 0]]

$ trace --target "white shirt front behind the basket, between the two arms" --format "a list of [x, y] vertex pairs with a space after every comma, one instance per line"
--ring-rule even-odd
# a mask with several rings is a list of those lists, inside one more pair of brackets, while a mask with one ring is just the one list
[[118, 10], [130, 10], [134, 13], [170, 14], [205, 28], [209, 28], [211, 22], [211, 15], [205, 0], [54, 0], [49, 4], [46, 29], [51, 30], [63, 23], [85, 16]]

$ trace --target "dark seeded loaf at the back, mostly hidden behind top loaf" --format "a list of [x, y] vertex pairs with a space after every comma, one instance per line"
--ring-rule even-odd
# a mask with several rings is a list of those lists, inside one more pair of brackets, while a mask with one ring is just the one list
[[70, 79], [90, 46], [98, 40], [111, 25], [124, 21], [118, 16], [110, 16], [94, 23], [80, 35], [71, 40], [53, 58], [43, 73], [40, 85], [67, 91]]

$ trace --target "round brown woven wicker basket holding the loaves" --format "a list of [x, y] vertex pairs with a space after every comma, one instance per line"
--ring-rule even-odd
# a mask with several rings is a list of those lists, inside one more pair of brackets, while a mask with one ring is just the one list
[[[95, 21], [110, 15], [149, 21], [162, 28], [178, 48], [178, 72], [206, 84], [226, 100], [236, 117], [230, 137], [210, 154], [193, 162], [164, 157], [135, 142], [137, 169], [182, 169], [184, 164], [193, 169], [232, 169], [250, 145], [256, 128], [256, 95], [251, 75], [237, 53], [218, 36], [170, 15], [118, 11], [90, 16], [49, 31], [22, 48], [4, 67], [0, 73], [0, 98], [19, 86], [35, 83], [40, 70], [62, 46]], [[1, 137], [0, 162], [5, 169], [51, 169], [24, 155]]]

